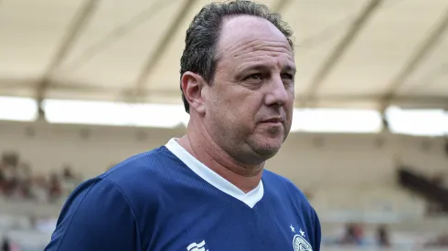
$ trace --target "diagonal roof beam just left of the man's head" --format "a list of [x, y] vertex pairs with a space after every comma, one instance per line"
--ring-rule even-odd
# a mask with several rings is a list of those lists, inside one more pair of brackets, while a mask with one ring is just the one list
[[159, 40], [159, 43], [155, 47], [154, 52], [150, 54], [149, 57], [146, 59], [144, 67], [140, 71], [137, 79], [135, 80], [134, 97], [137, 100], [143, 98], [141, 94], [144, 92], [144, 84], [146, 83], [146, 80], [153, 72], [157, 62], [164, 55], [173, 37], [175, 37], [177, 29], [179, 28], [179, 26], [182, 25], [183, 22], [185, 22], [188, 12], [196, 4], [197, 0], [185, 0], [183, 2], [184, 4], [180, 8], [180, 12], [177, 14], [175, 20], [166, 31], [165, 36]]

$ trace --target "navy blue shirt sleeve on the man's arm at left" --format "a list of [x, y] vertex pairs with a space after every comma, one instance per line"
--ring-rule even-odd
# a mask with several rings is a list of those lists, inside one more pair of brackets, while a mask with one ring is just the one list
[[45, 251], [140, 250], [133, 209], [107, 179], [80, 184], [70, 194]]

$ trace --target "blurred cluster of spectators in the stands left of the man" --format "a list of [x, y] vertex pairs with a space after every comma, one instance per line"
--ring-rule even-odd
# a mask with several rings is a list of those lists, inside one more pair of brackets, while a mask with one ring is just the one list
[[4, 152], [0, 160], [0, 196], [7, 199], [53, 202], [70, 193], [81, 182], [69, 165], [46, 175], [33, 174], [30, 165], [16, 152]]

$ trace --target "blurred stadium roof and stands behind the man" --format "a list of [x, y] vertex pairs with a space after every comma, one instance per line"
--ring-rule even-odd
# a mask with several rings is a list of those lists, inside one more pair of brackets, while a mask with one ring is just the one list
[[[0, 1], [2, 245], [42, 250], [80, 182], [185, 133], [179, 59], [208, 2]], [[260, 2], [298, 68], [267, 169], [315, 206], [322, 250], [448, 250], [448, 1]]]

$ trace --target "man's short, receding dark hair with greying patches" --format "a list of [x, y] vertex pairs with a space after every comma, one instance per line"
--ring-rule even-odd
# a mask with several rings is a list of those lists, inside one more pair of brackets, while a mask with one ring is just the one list
[[[192, 71], [204, 78], [208, 84], [213, 81], [218, 60], [216, 47], [223, 20], [228, 16], [239, 15], [258, 16], [270, 21], [283, 33], [293, 49], [293, 30], [268, 6], [242, 0], [211, 3], [199, 11], [187, 29], [186, 46], [180, 58], [180, 78], [185, 72]], [[182, 91], [182, 84], [180, 89]], [[185, 110], [189, 113], [190, 107], [183, 91], [182, 100]]]

